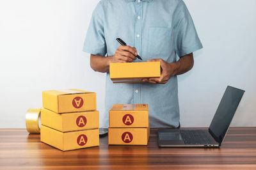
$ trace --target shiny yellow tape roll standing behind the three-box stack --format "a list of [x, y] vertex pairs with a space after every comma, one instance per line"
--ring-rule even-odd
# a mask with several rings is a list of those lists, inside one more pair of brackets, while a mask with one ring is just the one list
[[28, 109], [26, 113], [26, 128], [29, 133], [40, 134], [40, 109]]

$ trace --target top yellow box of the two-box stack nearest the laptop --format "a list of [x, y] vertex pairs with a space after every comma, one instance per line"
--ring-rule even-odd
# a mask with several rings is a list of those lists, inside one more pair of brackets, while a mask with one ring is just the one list
[[109, 110], [109, 127], [149, 127], [147, 104], [115, 104]]

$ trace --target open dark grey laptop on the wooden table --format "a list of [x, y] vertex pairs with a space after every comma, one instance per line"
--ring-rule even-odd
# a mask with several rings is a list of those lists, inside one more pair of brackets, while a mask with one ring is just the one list
[[244, 90], [227, 86], [208, 129], [160, 129], [159, 147], [220, 147]]

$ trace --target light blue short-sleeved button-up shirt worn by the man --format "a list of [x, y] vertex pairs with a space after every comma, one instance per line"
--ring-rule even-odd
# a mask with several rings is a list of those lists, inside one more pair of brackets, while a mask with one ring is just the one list
[[[144, 62], [162, 58], [171, 63], [177, 56], [202, 48], [182, 0], [100, 1], [93, 12], [83, 51], [113, 56], [120, 45], [116, 38], [136, 47]], [[148, 104], [150, 127], [178, 127], [177, 76], [166, 84], [113, 84], [107, 73], [103, 127], [108, 127], [108, 112], [113, 104]]]

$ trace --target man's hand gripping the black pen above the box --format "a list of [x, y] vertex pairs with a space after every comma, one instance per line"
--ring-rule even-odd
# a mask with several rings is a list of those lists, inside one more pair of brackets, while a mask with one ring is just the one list
[[120, 45], [114, 56], [110, 57], [109, 63], [131, 63], [138, 55], [135, 47]]

